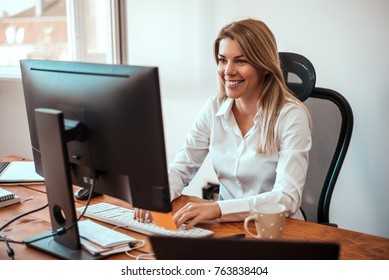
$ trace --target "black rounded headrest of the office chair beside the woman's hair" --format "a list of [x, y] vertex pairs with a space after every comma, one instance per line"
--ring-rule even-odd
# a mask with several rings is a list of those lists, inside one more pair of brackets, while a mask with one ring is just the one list
[[315, 68], [300, 54], [280, 52], [279, 55], [281, 70], [288, 88], [298, 99], [305, 101], [315, 87]]

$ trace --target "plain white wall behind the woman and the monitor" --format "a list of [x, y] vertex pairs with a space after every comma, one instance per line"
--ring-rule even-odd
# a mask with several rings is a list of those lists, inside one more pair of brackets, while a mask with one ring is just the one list
[[[330, 212], [339, 227], [389, 237], [389, 2], [386, 0], [129, 0], [131, 63], [160, 66], [168, 159], [205, 99], [215, 94], [213, 39], [233, 19], [255, 17], [280, 51], [308, 57], [317, 86], [354, 110], [354, 134]], [[30, 157], [20, 84], [0, 81], [0, 156]], [[12, 125], [10, 124], [12, 123]], [[188, 193], [214, 180], [210, 161]]]

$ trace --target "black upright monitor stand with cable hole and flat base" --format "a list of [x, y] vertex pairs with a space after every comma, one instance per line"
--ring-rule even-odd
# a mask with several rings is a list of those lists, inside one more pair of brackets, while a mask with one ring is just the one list
[[63, 113], [52, 109], [36, 109], [35, 118], [52, 231], [24, 242], [61, 259], [101, 259], [81, 247], [77, 225], [67, 142], [79, 138], [80, 124], [65, 130]]

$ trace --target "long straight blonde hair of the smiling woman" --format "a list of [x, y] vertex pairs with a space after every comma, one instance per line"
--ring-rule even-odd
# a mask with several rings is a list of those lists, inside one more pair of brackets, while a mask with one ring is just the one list
[[[248, 62], [257, 69], [264, 70], [264, 87], [258, 92], [258, 112], [261, 114], [260, 142], [261, 153], [276, 150], [274, 127], [277, 117], [286, 102], [300, 104], [308, 117], [305, 106], [288, 89], [280, 66], [276, 39], [269, 27], [262, 21], [244, 19], [232, 22], [223, 27], [214, 43], [214, 56], [218, 62], [219, 44], [224, 38], [235, 40]], [[221, 82], [221, 81], [220, 81]], [[219, 98], [227, 98], [225, 88], [220, 86]]]

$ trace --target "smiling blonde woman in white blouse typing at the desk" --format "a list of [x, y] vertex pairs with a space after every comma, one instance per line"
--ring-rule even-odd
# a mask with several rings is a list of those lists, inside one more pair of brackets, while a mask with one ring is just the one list
[[[200, 221], [243, 220], [264, 202], [299, 210], [311, 147], [310, 117], [288, 90], [276, 40], [261, 21], [245, 19], [220, 31], [214, 55], [220, 92], [210, 99], [169, 165], [172, 200], [210, 152], [220, 182], [219, 200], [186, 204], [174, 215], [177, 226]], [[144, 212], [137, 209], [135, 217]]]

